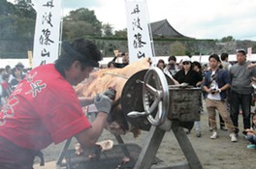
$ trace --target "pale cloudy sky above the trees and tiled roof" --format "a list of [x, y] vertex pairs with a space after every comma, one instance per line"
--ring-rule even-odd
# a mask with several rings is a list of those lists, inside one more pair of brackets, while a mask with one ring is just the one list
[[[126, 1], [130, 0], [62, 0], [62, 8], [63, 14], [93, 10], [102, 23], [122, 30], [127, 23]], [[256, 0], [146, 0], [146, 4], [149, 22], [167, 19], [184, 36], [256, 41]]]

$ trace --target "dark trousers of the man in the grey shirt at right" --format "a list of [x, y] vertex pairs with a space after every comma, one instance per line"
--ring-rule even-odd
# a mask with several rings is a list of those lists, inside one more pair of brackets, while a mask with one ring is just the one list
[[230, 115], [234, 126], [235, 132], [239, 133], [239, 114], [240, 107], [243, 117], [243, 128], [250, 128], [250, 112], [251, 112], [251, 94], [238, 94], [235, 91], [230, 91]]

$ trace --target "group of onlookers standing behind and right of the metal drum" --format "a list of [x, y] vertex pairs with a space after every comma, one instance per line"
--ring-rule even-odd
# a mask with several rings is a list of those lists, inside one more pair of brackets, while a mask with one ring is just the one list
[[[218, 137], [216, 113], [219, 114], [219, 125], [230, 132], [232, 142], [238, 141], [240, 132], [239, 115], [242, 114], [244, 138], [252, 143], [248, 149], [256, 149], [256, 132], [254, 122], [256, 117], [251, 105], [254, 104], [253, 83], [256, 77], [256, 64], [246, 60], [243, 49], [237, 50], [237, 63], [228, 62], [228, 54], [211, 54], [208, 66], [199, 62], [191, 62], [187, 57], [176, 63], [176, 56], [170, 56], [168, 63], [159, 60], [157, 67], [174, 79], [175, 84], [187, 83], [202, 88], [208, 124], [212, 131], [211, 139]], [[199, 110], [200, 111], [200, 110]], [[196, 135], [201, 136], [200, 121], [195, 122]]]

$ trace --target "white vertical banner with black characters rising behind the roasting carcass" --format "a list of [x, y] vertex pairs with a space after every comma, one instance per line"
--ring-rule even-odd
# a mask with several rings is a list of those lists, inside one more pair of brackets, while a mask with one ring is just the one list
[[144, 57], [150, 57], [153, 60], [146, 2], [125, 1], [125, 5], [130, 63]]

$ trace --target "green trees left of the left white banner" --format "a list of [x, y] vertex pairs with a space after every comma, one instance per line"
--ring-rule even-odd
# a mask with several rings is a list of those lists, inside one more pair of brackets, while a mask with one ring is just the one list
[[36, 12], [31, 0], [0, 1], [0, 38], [33, 40]]

